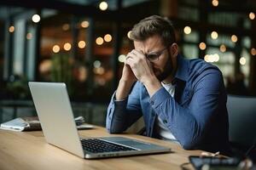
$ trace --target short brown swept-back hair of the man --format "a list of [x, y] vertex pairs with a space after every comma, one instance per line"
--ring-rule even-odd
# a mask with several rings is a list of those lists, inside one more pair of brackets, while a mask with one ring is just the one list
[[130, 37], [133, 41], [145, 41], [154, 35], [159, 35], [166, 46], [176, 42], [172, 22], [159, 15], [152, 15], [139, 21], [133, 26]]

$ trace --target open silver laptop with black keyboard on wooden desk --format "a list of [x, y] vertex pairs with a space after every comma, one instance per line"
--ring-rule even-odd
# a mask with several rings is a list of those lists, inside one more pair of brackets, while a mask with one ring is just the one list
[[55, 82], [28, 84], [44, 137], [49, 144], [85, 159], [171, 151], [170, 148], [160, 145], [123, 137], [80, 139], [66, 84]]

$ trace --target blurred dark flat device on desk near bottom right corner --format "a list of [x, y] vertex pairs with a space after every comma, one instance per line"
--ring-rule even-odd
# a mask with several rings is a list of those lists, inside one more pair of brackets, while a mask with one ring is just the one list
[[207, 169], [212, 169], [212, 167], [218, 167], [218, 169], [235, 169], [241, 162], [241, 160], [237, 158], [219, 158], [212, 156], [189, 156], [189, 161], [193, 167], [198, 170], [203, 169], [203, 166], [208, 166], [209, 168]]

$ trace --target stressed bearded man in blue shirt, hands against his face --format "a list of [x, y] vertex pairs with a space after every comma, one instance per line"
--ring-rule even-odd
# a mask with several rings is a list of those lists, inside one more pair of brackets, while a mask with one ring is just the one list
[[[131, 31], [119, 86], [108, 105], [109, 133], [122, 133], [143, 116], [146, 135], [184, 149], [225, 151], [228, 113], [221, 71], [178, 54], [172, 23], [157, 15]], [[222, 152], [223, 153], [223, 152]]]

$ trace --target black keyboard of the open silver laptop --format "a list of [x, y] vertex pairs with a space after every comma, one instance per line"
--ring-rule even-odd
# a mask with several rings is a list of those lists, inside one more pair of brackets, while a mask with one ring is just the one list
[[113, 152], [113, 151], [128, 151], [135, 150], [120, 144], [113, 144], [101, 139], [82, 139], [83, 149], [91, 153]]

